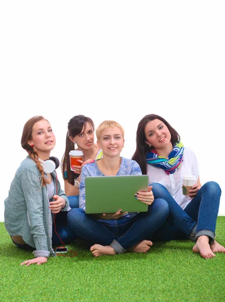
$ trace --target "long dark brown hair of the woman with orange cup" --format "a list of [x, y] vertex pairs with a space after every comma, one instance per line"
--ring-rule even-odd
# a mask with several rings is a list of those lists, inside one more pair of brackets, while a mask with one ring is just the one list
[[[65, 138], [65, 152], [62, 157], [62, 165], [61, 165], [61, 171], [63, 179], [67, 179], [68, 183], [74, 186], [74, 173], [70, 170], [70, 163], [69, 163], [69, 152], [70, 150], [74, 150], [74, 143], [69, 139], [70, 137], [74, 137], [81, 133], [83, 127], [87, 126], [87, 123], [90, 123], [93, 127], [93, 130], [95, 129], [95, 125], [93, 123], [93, 120], [90, 117], [84, 116], [84, 115], [76, 115], [73, 116], [69, 122], [68, 122], [68, 131], [66, 133]], [[64, 172], [66, 171], [66, 178], [64, 176]], [[75, 177], [79, 177], [78, 174], [75, 174]]]

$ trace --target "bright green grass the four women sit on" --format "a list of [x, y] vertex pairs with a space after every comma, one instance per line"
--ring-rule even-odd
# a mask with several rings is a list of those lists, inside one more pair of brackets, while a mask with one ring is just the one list
[[[31, 252], [13, 245], [0, 223], [0, 301], [224, 301], [225, 254], [205, 260], [191, 241], [154, 243], [146, 254], [94, 258], [83, 241], [67, 245], [77, 256], [20, 266]], [[225, 245], [225, 217], [217, 241]]]

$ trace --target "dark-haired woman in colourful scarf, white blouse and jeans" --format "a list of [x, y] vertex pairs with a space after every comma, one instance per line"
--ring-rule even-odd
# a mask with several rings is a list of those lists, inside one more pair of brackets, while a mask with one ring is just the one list
[[[149, 177], [155, 198], [167, 200], [169, 207], [174, 201], [197, 221], [193, 251], [203, 258], [215, 257], [216, 252], [225, 253], [225, 248], [215, 240], [221, 189], [215, 182], [201, 186], [197, 159], [191, 149], [184, 147], [177, 131], [161, 116], [149, 114], [138, 124], [136, 150], [132, 157], [142, 174]], [[182, 192], [182, 176], [194, 175], [197, 179], [188, 196]], [[155, 240], [184, 239], [184, 235], [166, 222], [155, 233]], [[153, 239], [153, 240], [154, 240]]]

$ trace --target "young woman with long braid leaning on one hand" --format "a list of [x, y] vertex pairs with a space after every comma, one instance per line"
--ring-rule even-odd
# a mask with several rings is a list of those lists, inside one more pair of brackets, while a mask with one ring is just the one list
[[55, 167], [51, 172], [44, 171], [55, 135], [43, 116], [26, 122], [21, 145], [28, 156], [18, 168], [5, 200], [5, 226], [15, 245], [33, 250], [35, 258], [21, 263], [28, 266], [46, 263], [49, 255], [56, 256], [52, 246], [59, 245], [60, 239], [69, 243], [76, 235], [67, 226], [66, 211], [70, 207], [53, 171]]

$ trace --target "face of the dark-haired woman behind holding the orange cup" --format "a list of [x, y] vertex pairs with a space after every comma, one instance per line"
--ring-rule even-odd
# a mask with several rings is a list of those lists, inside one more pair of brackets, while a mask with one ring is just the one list
[[73, 142], [76, 142], [79, 149], [89, 150], [94, 144], [94, 129], [93, 126], [87, 122], [81, 133], [72, 137], [69, 137]]

